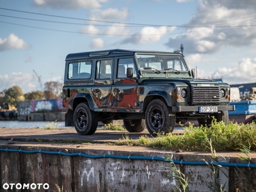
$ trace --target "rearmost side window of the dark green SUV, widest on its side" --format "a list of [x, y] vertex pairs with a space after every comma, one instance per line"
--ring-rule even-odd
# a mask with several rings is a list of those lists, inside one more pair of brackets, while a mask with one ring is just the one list
[[92, 76], [92, 61], [81, 61], [68, 64], [68, 79], [90, 79]]

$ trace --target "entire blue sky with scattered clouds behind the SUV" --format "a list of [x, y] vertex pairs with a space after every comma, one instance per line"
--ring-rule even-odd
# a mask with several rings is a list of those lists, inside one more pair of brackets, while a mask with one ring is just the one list
[[70, 52], [180, 44], [198, 77], [256, 82], [255, 0], [0, 0], [0, 29], [0, 92], [63, 82]]

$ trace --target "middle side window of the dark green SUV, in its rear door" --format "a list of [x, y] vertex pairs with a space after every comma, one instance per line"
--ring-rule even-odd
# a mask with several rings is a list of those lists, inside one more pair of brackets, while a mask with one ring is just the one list
[[96, 79], [111, 79], [112, 60], [97, 61]]

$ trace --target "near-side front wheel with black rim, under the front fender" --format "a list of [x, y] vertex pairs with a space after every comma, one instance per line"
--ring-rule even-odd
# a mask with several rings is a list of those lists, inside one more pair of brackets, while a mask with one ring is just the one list
[[170, 108], [162, 99], [154, 99], [148, 104], [145, 121], [152, 136], [156, 136], [158, 132], [167, 134], [174, 129], [176, 115], [170, 112]]

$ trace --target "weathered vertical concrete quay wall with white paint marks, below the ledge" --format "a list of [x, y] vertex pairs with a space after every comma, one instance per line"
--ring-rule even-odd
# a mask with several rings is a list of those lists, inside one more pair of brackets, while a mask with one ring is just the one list
[[[10, 145], [0, 145], [1, 148], [10, 148]], [[19, 146], [11, 148], [19, 149]], [[25, 150], [35, 150], [36, 147], [22, 147]], [[86, 150], [78, 148], [42, 147], [42, 150], [83, 152], [90, 155], [119, 155], [119, 156], [157, 156], [170, 157], [168, 153], [150, 152], [122, 152], [111, 150]], [[174, 154], [173, 159], [184, 161], [202, 161], [209, 156], [200, 154]], [[220, 157], [218, 160], [237, 162], [237, 158]], [[56, 184], [63, 187], [63, 191], [177, 191], [175, 186], [180, 186], [172, 172], [172, 164], [164, 161], [129, 160], [86, 157], [71, 157], [51, 154], [24, 154], [20, 152], [0, 152], [0, 191], [4, 184], [20, 183], [49, 184], [48, 191], [58, 191]], [[255, 163], [255, 159], [252, 160]], [[211, 191], [209, 182], [214, 183], [214, 174], [209, 166], [186, 165], [180, 166], [180, 171], [188, 177], [189, 191]], [[225, 184], [226, 191], [246, 191], [256, 186], [255, 170], [223, 167], [218, 180]], [[249, 179], [248, 173], [251, 173]], [[236, 173], [241, 173], [236, 175]], [[24, 190], [26, 191], [26, 190]], [[33, 190], [32, 190], [33, 191]], [[36, 191], [44, 191], [38, 189]]]

